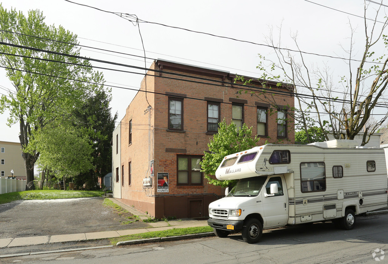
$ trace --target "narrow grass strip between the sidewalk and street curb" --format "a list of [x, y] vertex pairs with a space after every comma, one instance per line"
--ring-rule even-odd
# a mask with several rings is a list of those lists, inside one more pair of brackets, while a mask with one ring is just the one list
[[163, 231], [152, 231], [147, 233], [133, 234], [128, 236], [119, 236], [117, 238], [109, 238], [112, 245], [116, 245], [120, 241], [137, 240], [143, 238], [164, 238], [168, 236], [184, 236], [188, 234], [199, 234], [213, 232], [210, 226], [187, 227], [187, 228], [173, 228]]

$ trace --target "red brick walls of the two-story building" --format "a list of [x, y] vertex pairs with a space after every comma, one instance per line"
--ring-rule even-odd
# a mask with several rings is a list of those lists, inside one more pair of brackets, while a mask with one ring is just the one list
[[[163, 62], [162, 62], [163, 63]], [[159, 69], [153, 64], [151, 68]], [[225, 72], [208, 71], [197, 68], [187, 67], [187, 70], [178, 70], [177, 68], [169, 68], [168, 65], [163, 66], [163, 71], [176, 72], [186, 75], [205, 77], [213, 80], [225, 80], [228, 74]], [[203, 72], [201, 72], [203, 71]], [[149, 74], [154, 74], [149, 72]], [[121, 164], [124, 165], [125, 183], [122, 187], [122, 198], [125, 203], [134, 205], [143, 212], [148, 211], [149, 214], [156, 217], [162, 216], [177, 216], [189, 217], [190, 212], [187, 212], [187, 201], [189, 198], [203, 199], [203, 215], [207, 215], [207, 207], [211, 201], [217, 199], [216, 195], [222, 196], [223, 188], [209, 185], [206, 179], [203, 180], [201, 186], [178, 186], [177, 185], [177, 155], [201, 155], [208, 150], [208, 143], [211, 135], [206, 135], [207, 131], [207, 101], [204, 97], [222, 99], [220, 105], [221, 120], [225, 119], [228, 124], [232, 119], [232, 105], [229, 98], [238, 98], [247, 100], [244, 105], [244, 122], [250, 127], [253, 127], [253, 133], [257, 133], [256, 127], [256, 106], [255, 102], [267, 103], [267, 101], [276, 101], [278, 105], [294, 106], [294, 98], [290, 95], [264, 94], [253, 95], [236, 94], [241, 88], [236, 85], [225, 84], [222, 86], [214, 86], [211, 84], [199, 84], [195, 82], [187, 82], [186, 80], [194, 80], [189, 77], [179, 77], [166, 73], [155, 73], [156, 77], [147, 77], [147, 90], [155, 91], [161, 94], [148, 94], [147, 99], [152, 106], [151, 127], [153, 129], [154, 138], [152, 141], [151, 135], [151, 153], [154, 159], [154, 179], [152, 187], [142, 186], [143, 178], [149, 177], [147, 172], [149, 157], [149, 137], [148, 137], [148, 114], [144, 115], [144, 110], [148, 103], [145, 100], [145, 93], [139, 92], [126, 110], [126, 115], [122, 119], [121, 129]], [[158, 77], [173, 77], [180, 80], [172, 80]], [[226, 79], [225, 79], [226, 78]], [[199, 82], [211, 82], [208, 80], [195, 80]], [[144, 90], [145, 80], [142, 81], [141, 89]], [[286, 91], [285, 89], [282, 89]], [[184, 133], [167, 131], [168, 129], [168, 98], [165, 93], [186, 94], [187, 97], [183, 100], [183, 122]], [[171, 96], [173, 97], [173, 96]], [[201, 100], [196, 100], [196, 99]], [[261, 100], [263, 98], [264, 100]], [[269, 99], [268, 99], [269, 98]], [[277, 138], [277, 114], [274, 110], [273, 114], [268, 115], [268, 137], [262, 137], [258, 145], [274, 143]], [[128, 123], [132, 119], [132, 144], [128, 145]], [[288, 121], [288, 138], [285, 141], [294, 142], [294, 126], [292, 120]], [[145, 129], [145, 130], [141, 130]], [[152, 132], [152, 131], [151, 131]], [[151, 133], [152, 134], [152, 133]], [[166, 148], [185, 149], [182, 152], [166, 152]], [[132, 184], [128, 185], [128, 161], [132, 161]], [[169, 192], [157, 192], [157, 173], [169, 173]], [[158, 196], [159, 198], [155, 198]], [[167, 196], [167, 197], [166, 197]], [[170, 198], [168, 198], [170, 197]], [[175, 197], [175, 198], [174, 198]], [[177, 206], [170, 206], [170, 203], [175, 201]], [[176, 201], [179, 201], [176, 202]], [[132, 203], [132, 204], [131, 204]], [[179, 204], [179, 205], [178, 205]], [[146, 208], [146, 210], [145, 210]], [[179, 214], [177, 213], [179, 212]]]

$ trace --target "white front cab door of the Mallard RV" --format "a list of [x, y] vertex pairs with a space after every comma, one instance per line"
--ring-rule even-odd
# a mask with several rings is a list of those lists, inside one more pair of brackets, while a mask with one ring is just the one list
[[[271, 194], [271, 184], [277, 184], [277, 193]], [[284, 226], [288, 220], [288, 195], [283, 175], [272, 176], [263, 187], [264, 226]]]

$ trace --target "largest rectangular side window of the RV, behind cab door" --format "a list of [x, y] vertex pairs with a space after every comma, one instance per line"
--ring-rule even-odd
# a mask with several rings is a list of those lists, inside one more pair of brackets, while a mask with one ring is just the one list
[[301, 192], [326, 191], [325, 163], [300, 163]]

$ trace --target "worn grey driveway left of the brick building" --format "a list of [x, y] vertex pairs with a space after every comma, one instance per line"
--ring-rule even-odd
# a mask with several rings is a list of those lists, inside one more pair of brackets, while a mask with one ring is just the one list
[[112, 208], [102, 205], [103, 201], [103, 198], [95, 197], [2, 204], [0, 238], [91, 233], [149, 226], [144, 222], [121, 224], [128, 220], [126, 215], [112, 212]]

